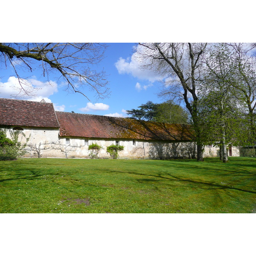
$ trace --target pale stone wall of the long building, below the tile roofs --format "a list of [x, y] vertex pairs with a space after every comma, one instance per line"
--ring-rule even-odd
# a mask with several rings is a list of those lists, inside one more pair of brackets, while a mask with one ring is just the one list
[[[12, 126], [14, 128], [15, 126]], [[99, 152], [100, 158], [110, 158], [107, 154], [107, 147], [116, 145], [114, 139], [82, 138], [82, 137], [59, 137], [58, 128], [35, 128], [21, 127], [26, 137], [29, 137], [28, 144], [36, 145], [41, 143], [42, 157], [65, 158], [89, 158], [88, 146], [97, 143], [102, 146]], [[66, 144], [69, 138], [69, 144]], [[21, 139], [21, 138], [20, 138]], [[25, 141], [25, 138], [22, 138]], [[169, 159], [169, 158], [193, 158], [196, 157], [195, 143], [164, 143], [159, 141], [146, 140], [118, 140], [119, 145], [124, 146], [123, 151], [119, 151], [119, 158], [127, 159]], [[135, 145], [134, 145], [135, 143]], [[38, 157], [38, 154], [31, 147], [26, 148], [24, 157]], [[204, 157], [217, 157], [219, 148], [204, 148]], [[229, 156], [229, 150], [227, 150]], [[239, 156], [239, 148], [232, 147], [232, 156]]]

